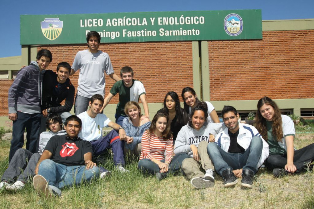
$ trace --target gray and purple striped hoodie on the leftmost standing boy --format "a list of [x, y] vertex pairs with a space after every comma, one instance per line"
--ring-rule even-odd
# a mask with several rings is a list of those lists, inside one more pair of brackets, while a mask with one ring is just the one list
[[45, 70], [40, 71], [36, 61], [31, 61], [30, 65], [19, 70], [9, 89], [9, 113], [41, 112], [40, 102], [44, 73]]

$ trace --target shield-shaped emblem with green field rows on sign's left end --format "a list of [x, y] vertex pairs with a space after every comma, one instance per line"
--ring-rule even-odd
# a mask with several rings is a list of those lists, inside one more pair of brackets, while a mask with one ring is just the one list
[[45, 18], [41, 22], [41, 31], [49, 40], [54, 40], [59, 37], [62, 32], [63, 21], [59, 18]]

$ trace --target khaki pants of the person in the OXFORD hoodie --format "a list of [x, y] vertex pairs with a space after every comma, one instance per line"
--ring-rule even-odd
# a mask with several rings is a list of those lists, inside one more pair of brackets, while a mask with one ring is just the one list
[[200, 156], [201, 160], [196, 161], [193, 158], [183, 160], [181, 169], [188, 179], [192, 179], [194, 177], [204, 178], [205, 170], [214, 170], [214, 165], [207, 153], [207, 145], [207, 141], [202, 141], [198, 144], [198, 156]]

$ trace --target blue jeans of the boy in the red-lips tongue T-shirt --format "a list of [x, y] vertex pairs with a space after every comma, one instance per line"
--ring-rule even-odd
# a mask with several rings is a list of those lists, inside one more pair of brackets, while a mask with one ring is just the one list
[[[38, 174], [42, 175], [56, 191], [65, 186], [73, 184], [79, 185], [83, 181], [90, 181], [92, 178], [98, 178], [99, 167], [94, 166], [87, 170], [85, 165], [66, 166], [55, 163], [51, 159], [46, 159], [39, 165]], [[58, 193], [58, 190], [56, 191]]]

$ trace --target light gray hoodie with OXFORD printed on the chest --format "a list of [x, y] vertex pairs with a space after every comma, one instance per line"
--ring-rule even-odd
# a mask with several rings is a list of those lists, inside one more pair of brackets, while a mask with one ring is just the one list
[[224, 128], [226, 128], [224, 123], [204, 123], [199, 130], [196, 130], [192, 128], [192, 123], [189, 121], [178, 133], [174, 145], [174, 153], [187, 153], [190, 157], [193, 157], [190, 148], [191, 144], [198, 146], [201, 141], [207, 141], [209, 143], [209, 134], [216, 135]]

